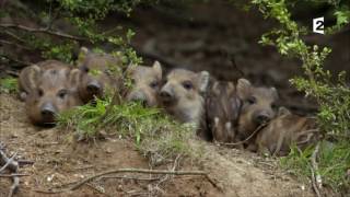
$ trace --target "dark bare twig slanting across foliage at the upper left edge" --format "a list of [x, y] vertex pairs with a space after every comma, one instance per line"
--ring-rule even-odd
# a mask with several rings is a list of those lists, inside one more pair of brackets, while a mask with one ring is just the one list
[[24, 25], [20, 25], [20, 24], [4, 24], [4, 23], [0, 23], [0, 27], [3, 28], [16, 28], [16, 30], [21, 30], [21, 31], [25, 31], [25, 32], [31, 32], [31, 33], [44, 33], [44, 34], [48, 34], [48, 35], [52, 35], [52, 36], [57, 36], [57, 37], [62, 37], [62, 38], [67, 38], [67, 39], [72, 39], [72, 40], [79, 40], [79, 42], [86, 42], [86, 38], [83, 37], [78, 37], [78, 36], [73, 36], [70, 34], [66, 34], [62, 32], [57, 32], [57, 31], [51, 31], [51, 30], [47, 30], [47, 28], [32, 28], [28, 26], [24, 26]]

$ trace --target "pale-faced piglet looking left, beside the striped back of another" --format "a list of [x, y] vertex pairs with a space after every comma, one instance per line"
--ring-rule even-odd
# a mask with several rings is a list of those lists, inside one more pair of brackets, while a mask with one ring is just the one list
[[165, 81], [160, 99], [166, 112], [182, 123], [191, 123], [198, 127], [205, 112], [202, 93], [207, 90], [209, 73], [174, 69]]

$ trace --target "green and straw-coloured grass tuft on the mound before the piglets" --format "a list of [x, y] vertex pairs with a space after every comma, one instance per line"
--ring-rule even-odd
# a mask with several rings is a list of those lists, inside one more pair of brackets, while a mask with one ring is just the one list
[[158, 108], [130, 102], [108, 109], [109, 103], [110, 99], [97, 100], [94, 106], [83, 105], [66, 112], [58, 117], [58, 125], [84, 139], [96, 139], [102, 132], [131, 139], [154, 165], [191, 153], [188, 140], [194, 132], [189, 126], [174, 121]]

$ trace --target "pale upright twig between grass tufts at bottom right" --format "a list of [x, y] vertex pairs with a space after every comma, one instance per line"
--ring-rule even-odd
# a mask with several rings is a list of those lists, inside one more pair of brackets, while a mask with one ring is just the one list
[[317, 195], [317, 197], [322, 197], [320, 189], [322, 189], [322, 177], [318, 173], [318, 165], [316, 162], [316, 158], [319, 151], [319, 142], [317, 143], [312, 157], [311, 157], [311, 173], [312, 173], [312, 183], [313, 188]]

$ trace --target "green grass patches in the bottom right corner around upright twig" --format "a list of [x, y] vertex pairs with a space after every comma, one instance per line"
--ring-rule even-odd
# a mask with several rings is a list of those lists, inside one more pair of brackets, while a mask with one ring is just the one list
[[[310, 158], [313, 151], [313, 148], [299, 151], [298, 148], [294, 147], [288, 157], [281, 158], [280, 164], [283, 169], [306, 182], [307, 177], [312, 175]], [[346, 177], [347, 171], [350, 169], [349, 141], [343, 140], [335, 143], [323, 141], [320, 143], [317, 163], [318, 173], [324, 184], [340, 193], [350, 188], [349, 179]]]

